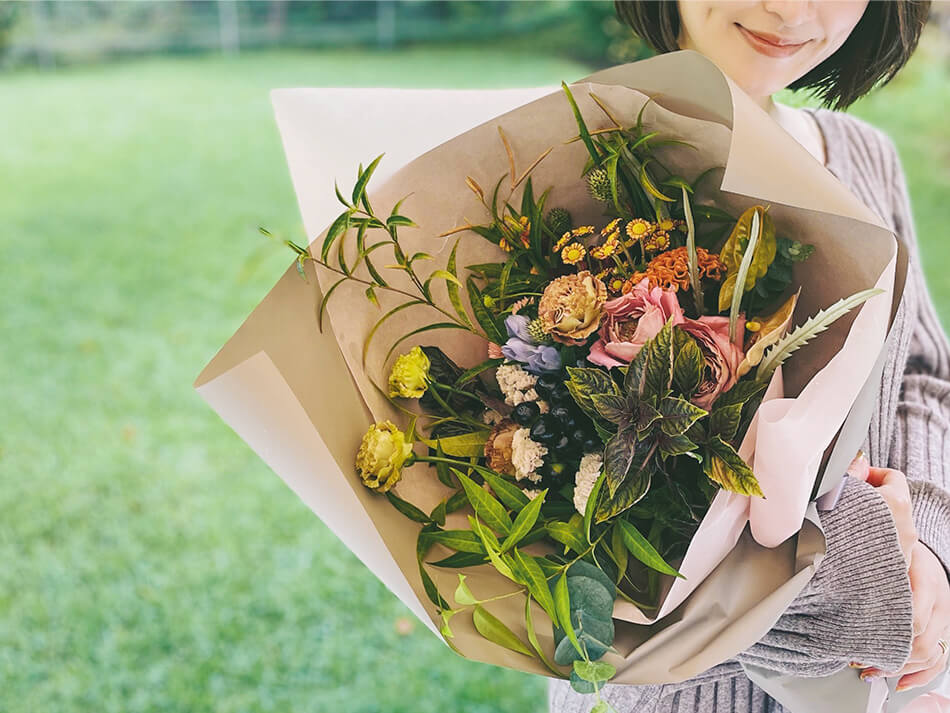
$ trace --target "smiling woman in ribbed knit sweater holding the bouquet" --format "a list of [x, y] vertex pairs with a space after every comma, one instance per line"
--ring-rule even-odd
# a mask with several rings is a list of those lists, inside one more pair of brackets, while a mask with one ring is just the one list
[[[862, 676], [899, 676], [901, 689], [944, 675], [950, 639], [950, 345], [920, 269], [903, 170], [893, 143], [827, 108], [792, 109], [771, 95], [810, 87], [843, 109], [890, 80], [916, 47], [929, 1], [615, 2], [657, 51], [693, 49], [732, 78], [789, 134], [876, 211], [910, 252], [879, 410], [838, 506], [823, 513], [828, 554], [812, 581], [757, 644], [671, 685], [609, 685], [604, 698], [636, 711], [774, 711], [740, 662], [797, 676], [849, 663]], [[552, 680], [554, 713], [590, 698]]]

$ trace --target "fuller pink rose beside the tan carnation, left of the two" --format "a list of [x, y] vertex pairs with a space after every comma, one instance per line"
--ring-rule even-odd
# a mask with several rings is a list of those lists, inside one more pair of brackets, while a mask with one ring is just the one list
[[685, 317], [676, 293], [662, 287], [650, 289], [644, 277], [627, 294], [604, 303], [600, 339], [594, 342], [589, 361], [607, 368], [629, 364], [670, 317], [681, 324]]

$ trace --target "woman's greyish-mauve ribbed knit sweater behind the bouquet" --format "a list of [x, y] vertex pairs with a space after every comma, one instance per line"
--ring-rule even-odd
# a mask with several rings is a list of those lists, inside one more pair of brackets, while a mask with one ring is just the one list
[[[950, 572], [950, 344], [921, 272], [903, 169], [879, 129], [849, 114], [808, 111], [824, 134], [828, 169], [909, 248], [896, 339], [864, 451], [871, 465], [907, 475], [920, 539]], [[873, 487], [848, 479], [838, 506], [821, 520], [828, 554], [761, 641], [688, 681], [608, 685], [604, 697], [620, 713], [785, 713], [743, 674], [740, 661], [796, 676], [829, 675], [849, 661], [901, 668], [912, 640], [911, 592], [887, 505]], [[552, 713], [587, 711], [592, 700], [551, 680]]]

